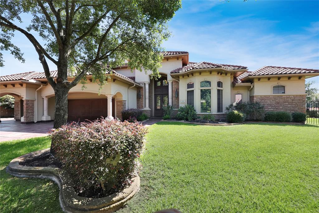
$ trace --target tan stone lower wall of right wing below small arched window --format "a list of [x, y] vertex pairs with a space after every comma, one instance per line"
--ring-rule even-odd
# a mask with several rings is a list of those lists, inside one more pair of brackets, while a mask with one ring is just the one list
[[260, 102], [265, 111], [286, 111], [306, 113], [306, 95], [258, 95], [250, 96], [250, 101]]

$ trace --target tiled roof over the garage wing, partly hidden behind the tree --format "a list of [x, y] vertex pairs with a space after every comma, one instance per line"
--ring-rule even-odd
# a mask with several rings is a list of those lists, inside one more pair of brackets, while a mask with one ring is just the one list
[[[54, 70], [54, 71], [50, 71], [50, 73], [51, 73], [51, 76], [53, 78], [56, 78], [58, 71]], [[111, 71], [105, 72], [105, 74], [110, 74], [110, 73], [111, 73]], [[115, 72], [114, 70], [112, 70], [112, 74], [118, 75], [118, 76], [120, 76], [128, 81], [139, 84], [135, 81], [135, 79], [128, 78], [124, 75], [121, 75], [121, 74]], [[75, 76], [75, 75], [76, 75], [75, 73], [74, 74], [72, 74], [70, 72], [68, 73], [68, 76]], [[92, 73], [87, 72], [86, 75], [92, 75]], [[43, 79], [43, 78], [46, 78], [45, 73], [32, 71], [32, 72], [27, 72], [27, 73], [19, 73], [19, 74], [13, 74], [13, 75], [0, 76], [0, 81], [16, 81], [16, 80], [28, 81], [28, 80], [38, 80], [38, 79]]]

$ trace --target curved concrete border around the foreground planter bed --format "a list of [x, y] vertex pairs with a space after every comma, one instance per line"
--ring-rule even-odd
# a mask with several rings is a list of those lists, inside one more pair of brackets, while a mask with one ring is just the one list
[[41, 154], [49, 149], [43, 149], [13, 159], [6, 168], [7, 173], [16, 177], [34, 177], [53, 180], [60, 188], [59, 201], [64, 212], [114, 212], [129, 201], [140, 188], [140, 178], [132, 178], [132, 184], [122, 192], [103, 198], [80, 197], [75, 192], [71, 178], [64, 170], [52, 167], [21, 166], [19, 162], [33, 154]]

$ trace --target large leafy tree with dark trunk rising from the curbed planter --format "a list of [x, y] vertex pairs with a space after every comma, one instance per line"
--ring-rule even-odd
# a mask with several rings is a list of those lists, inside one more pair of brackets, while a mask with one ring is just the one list
[[[64, 125], [68, 117], [69, 90], [83, 83], [86, 73], [100, 87], [106, 82], [105, 71], [120, 66], [126, 59], [129, 68], [151, 70], [158, 76], [163, 59], [161, 43], [170, 33], [167, 21], [181, 8], [181, 0], [1, 0], [1, 46], [24, 62], [23, 53], [11, 42], [14, 31], [24, 34], [39, 55], [48, 83], [55, 92], [54, 128]], [[32, 15], [31, 24], [23, 29], [21, 13]], [[41, 45], [33, 32], [38, 33]], [[57, 67], [54, 80], [47, 59]], [[0, 66], [4, 60], [0, 53]], [[74, 68], [75, 67], [75, 68]], [[75, 79], [68, 81], [69, 72]]]

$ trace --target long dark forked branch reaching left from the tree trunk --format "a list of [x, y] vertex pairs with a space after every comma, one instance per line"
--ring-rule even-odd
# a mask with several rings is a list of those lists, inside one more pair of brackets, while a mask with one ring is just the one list
[[[43, 47], [40, 45], [40, 43], [34, 38], [34, 36], [30, 33], [28, 33], [26, 30], [19, 28], [18, 26], [16, 26], [15, 24], [13, 24], [11, 21], [7, 20], [6, 18], [4, 18], [3, 16], [0, 16], [1, 20], [3, 21], [1, 23], [2, 26], [6, 27], [6, 28], [10, 28], [13, 30], [18, 30], [19, 32], [23, 33], [28, 39], [29, 41], [33, 44], [35, 51], [37, 51], [38, 55], [39, 55], [39, 60], [42, 63], [42, 67], [44, 69], [44, 73], [48, 79], [48, 82], [50, 83], [50, 85], [53, 87], [53, 89], [56, 87], [56, 83], [54, 82], [49, 67], [48, 67], [48, 63], [45, 59], [44, 56], [46, 56], [48, 59], [50, 59], [54, 64], [58, 65], [58, 62], [56, 60], [54, 60], [51, 56], [49, 56], [49, 54], [43, 49]], [[5, 23], [4, 23], [5, 22]]]

